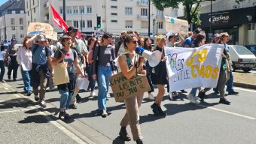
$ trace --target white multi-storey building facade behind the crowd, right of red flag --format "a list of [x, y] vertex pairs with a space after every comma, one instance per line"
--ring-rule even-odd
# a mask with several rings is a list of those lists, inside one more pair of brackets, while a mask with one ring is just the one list
[[[62, 1], [48, 1], [62, 15]], [[47, 4], [46, 4], [47, 5]], [[157, 10], [151, 5], [148, 10], [148, 0], [76, 0], [66, 1], [66, 23], [75, 26], [83, 33], [102, 33], [108, 31], [120, 34], [121, 31], [134, 30], [142, 35], [148, 35], [148, 17], [151, 15], [151, 34], [165, 34], [163, 16], [181, 17], [183, 8]], [[57, 32], [62, 29], [57, 27], [52, 18], [50, 7], [46, 7], [49, 14], [49, 23]], [[46, 10], [47, 11], [47, 10]], [[47, 12], [46, 12], [47, 13]], [[101, 17], [101, 28], [96, 28], [96, 17]]]

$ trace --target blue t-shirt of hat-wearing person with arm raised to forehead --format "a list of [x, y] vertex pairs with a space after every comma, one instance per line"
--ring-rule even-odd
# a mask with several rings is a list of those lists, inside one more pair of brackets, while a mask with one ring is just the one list
[[[32, 51], [32, 63], [36, 64], [36, 65], [44, 65], [45, 63], [47, 63], [47, 56], [52, 55], [52, 52], [50, 49], [48, 49], [47, 47], [43, 47], [43, 46], [38, 46], [36, 49], [35, 47], [38, 46], [37, 44], [33, 44], [31, 51]], [[45, 52], [45, 49], [48, 49], [47, 51], [47, 55]], [[35, 50], [35, 51], [34, 51]]]

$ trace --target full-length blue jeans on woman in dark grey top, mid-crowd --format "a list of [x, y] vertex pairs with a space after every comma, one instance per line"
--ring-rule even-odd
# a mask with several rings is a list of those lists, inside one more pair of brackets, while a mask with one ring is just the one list
[[99, 110], [107, 109], [107, 94], [108, 94], [108, 86], [109, 81], [108, 77], [111, 77], [111, 66], [101, 66], [98, 67], [98, 107]]

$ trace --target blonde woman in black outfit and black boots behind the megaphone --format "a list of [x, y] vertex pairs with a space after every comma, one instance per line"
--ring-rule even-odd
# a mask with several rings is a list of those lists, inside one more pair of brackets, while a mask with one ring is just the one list
[[160, 63], [152, 68], [151, 80], [154, 85], [157, 86], [158, 93], [154, 104], [151, 105], [154, 115], [166, 116], [166, 113], [161, 109], [161, 102], [163, 100], [163, 95], [165, 94], [164, 85], [168, 83], [167, 80], [167, 70], [166, 70], [166, 56], [164, 52], [164, 46], [166, 46], [166, 37], [159, 35], [156, 38], [156, 46], [154, 50], [159, 50], [162, 52], [162, 60]]

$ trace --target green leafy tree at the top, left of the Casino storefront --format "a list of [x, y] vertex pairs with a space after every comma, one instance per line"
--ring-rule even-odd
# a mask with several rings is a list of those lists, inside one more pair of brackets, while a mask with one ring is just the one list
[[[184, 6], [184, 17], [189, 24], [200, 24], [200, 4], [204, 1], [210, 0], [151, 0], [158, 10], [163, 10], [166, 7], [178, 8], [179, 4]], [[215, 1], [215, 0], [212, 0]], [[245, 0], [236, 0], [239, 3]]]

